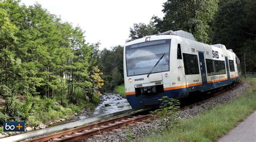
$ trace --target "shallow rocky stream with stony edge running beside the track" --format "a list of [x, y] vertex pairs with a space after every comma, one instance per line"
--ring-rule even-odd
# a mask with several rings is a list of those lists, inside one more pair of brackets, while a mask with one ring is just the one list
[[[39, 129], [46, 129], [48, 127], [55, 127], [55, 126], [59, 126], [67, 123], [78, 122], [80, 120], [84, 120], [87, 118], [101, 116], [101, 115], [108, 115], [110, 113], [128, 110], [131, 108], [127, 100], [125, 98], [122, 98], [118, 94], [105, 93], [104, 95], [102, 95], [100, 100], [101, 101], [97, 105], [93, 106], [93, 108], [91, 109], [81, 108], [79, 109], [79, 111], [77, 110], [76, 112], [73, 112], [69, 117], [50, 120], [49, 122], [41, 123], [36, 127], [26, 126], [25, 130], [26, 132], [37, 131]], [[8, 133], [2, 132], [0, 133], [0, 138], [14, 136], [20, 133], [21, 132], [8, 132]]]

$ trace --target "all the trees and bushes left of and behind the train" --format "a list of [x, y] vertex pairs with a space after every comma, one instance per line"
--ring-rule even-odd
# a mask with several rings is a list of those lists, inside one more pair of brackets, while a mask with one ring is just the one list
[[[232, 48], [242, 66], [246, 53], [246, 72], [255, 72], [255, 8], [252, 0], [167, 0], [163, 19], [134, 24], [129, 40], [185, 30], [198, 41]], [[37, 125], [93, 108], [100, 91], [116, 88], [124, 97], [123, 47], [99, 51], [99, 44], [87, 44], [80, 27], [40, 4], [0, 1], [0, 121]]]

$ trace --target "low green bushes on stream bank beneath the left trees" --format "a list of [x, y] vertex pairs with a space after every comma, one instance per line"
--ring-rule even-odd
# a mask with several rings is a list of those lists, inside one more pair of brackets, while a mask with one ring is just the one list
[[[55, 98], [39, 96], [25, 96], [24, 103], [19, 102], [16, 97], [8, 98], [9, 110], [7, 115], [0, 112], [0, 123], [7, 120], [24, 120], [27, 126], [38, 126], [40, 123], [47, 123], [59, 118], [69, 117], [73, 113], [78, 113], [84, 108], [93, 109], [99, 103], [98, 95], [93, 95], [93, 102], [82, 100], [80, 104], [60, 105]], [[8, 116], [10, 115], [10, 117]]]

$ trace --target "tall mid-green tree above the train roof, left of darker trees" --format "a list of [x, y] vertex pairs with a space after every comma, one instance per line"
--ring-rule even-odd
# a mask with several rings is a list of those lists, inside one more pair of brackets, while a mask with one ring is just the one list
[[211, 25], [218, 10], [218, 1], [169, 0], [163, 6], [164, 18], [152, 17], [157, 30], [184, 30], [192, 33], [197, 41], [211, 43]]

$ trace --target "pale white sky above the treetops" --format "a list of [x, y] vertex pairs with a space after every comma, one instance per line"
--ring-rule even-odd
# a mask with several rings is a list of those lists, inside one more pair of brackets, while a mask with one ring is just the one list
[[156, 15], [163, 18], [166, 0], [22, 0], [25, 5], [41, 4], [63, 22], [80, 26], [90, 44], [100, 42], [99, 49], [124, 45], [134, 23], [148, 24]]

